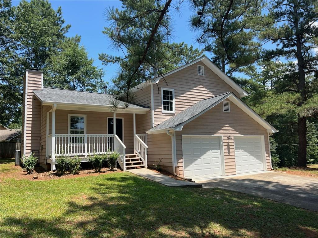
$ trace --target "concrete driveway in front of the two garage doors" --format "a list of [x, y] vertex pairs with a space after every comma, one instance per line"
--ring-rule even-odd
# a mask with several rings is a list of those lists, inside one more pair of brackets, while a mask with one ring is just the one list
[[318, 178], [271, 171], [196, 182], [203, 188], [223, 188], [318, 211]]

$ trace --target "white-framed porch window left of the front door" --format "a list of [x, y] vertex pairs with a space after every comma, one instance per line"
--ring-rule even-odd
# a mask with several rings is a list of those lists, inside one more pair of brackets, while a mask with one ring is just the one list
[[75, 135], [83, 135], [86, 131], [86, 115], [68, 115], [68, 131], [69, 134], [74, 135], [71, 136], [71, 143], [83, 143], [84, 136], [75, 136]]

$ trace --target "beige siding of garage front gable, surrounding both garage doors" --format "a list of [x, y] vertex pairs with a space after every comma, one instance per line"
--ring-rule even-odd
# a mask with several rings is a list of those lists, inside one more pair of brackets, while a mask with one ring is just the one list
[[[184, 125], [182, 131], [176, 131], [176, 171], [180, 171], [181, 176], [183, 175], [182, 135], [223, 135], [225, 175], [236, 174], [234, 136], [264, 136], [266, 167], [267, 170], [270, 170], [270, 149], [266, 129], [234, 103], [230, 102], [230, 108], [230, 113], [223, 112], [222, 103], [219, 103], [211, 110]], [[227, 136], [231, 136], [232, 139], [227, 139]]]

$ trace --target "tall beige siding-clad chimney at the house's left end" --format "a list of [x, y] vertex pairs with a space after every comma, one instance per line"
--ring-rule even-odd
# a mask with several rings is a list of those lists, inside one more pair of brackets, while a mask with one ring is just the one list
[[27, 69], [23, 79], [22, 144], [21, 155], [29, 156], [33, 151], [40, 156], [41, 102], [33, 90], [43, 90], [43, 72]]

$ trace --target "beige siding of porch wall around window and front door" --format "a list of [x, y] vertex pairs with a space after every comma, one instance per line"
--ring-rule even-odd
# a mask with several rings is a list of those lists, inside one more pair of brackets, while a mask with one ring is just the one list
[[[55, 111], [55, 134], [68, 134], [68, 114], [86, 115], [86, 134], [107, 134], [107, 117], [113, 117], [111, 112], [93, 112], [93, 111]], [[126, 154], [132, 154], [134, 151], [133, 138], [133, 114], [116, 113], [116, 118], [124, 118], [124, 144]]]

